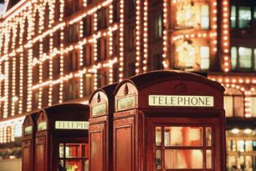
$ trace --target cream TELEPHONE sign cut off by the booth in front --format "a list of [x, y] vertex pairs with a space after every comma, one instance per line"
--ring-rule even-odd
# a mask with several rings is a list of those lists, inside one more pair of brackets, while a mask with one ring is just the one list
[[78, 121], [56, 121], [56, 130], [88, 130], [89, 122], [78, 122]]

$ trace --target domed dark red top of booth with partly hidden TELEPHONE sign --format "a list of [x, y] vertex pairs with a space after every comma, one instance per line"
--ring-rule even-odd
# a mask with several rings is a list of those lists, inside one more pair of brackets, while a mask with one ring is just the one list
[[[47, 123], [42, 130], [56, 130], [56, 122], [88, 122], [89, 106], [80, 103], [64, 103], [50, 106], [39, 111], [37, 116], [37, 131], [40, 123]], [[65, 123], [64, 123], [65, 122]], [[59, 128], [64, 130], [64, 128]]]

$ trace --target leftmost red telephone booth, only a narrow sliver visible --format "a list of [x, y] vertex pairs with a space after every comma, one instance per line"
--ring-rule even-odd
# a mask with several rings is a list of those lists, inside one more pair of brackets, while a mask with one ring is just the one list
[[34, 171], [34, 135], [37, 112], [26, 116], [23, 122], [22, 171]]

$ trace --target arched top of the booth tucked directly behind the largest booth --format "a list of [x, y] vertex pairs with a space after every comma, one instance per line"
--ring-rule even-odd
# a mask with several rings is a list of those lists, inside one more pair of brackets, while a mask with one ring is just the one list
[[109, 103], [109, 100], [114, 99], [113, 92], [117, 85], [117, 82], [108, 84], [92, 93], [89, 100], [91, 117], [108, 115], [111, 112], [109, 108], [113, 108], [113, 103]]

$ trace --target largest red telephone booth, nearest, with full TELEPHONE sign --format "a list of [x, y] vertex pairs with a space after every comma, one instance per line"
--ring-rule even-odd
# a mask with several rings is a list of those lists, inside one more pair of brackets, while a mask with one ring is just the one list
[[114, 92], [113, 170], [225, 170], [224, 88], [195, 73], [155, 71]]

